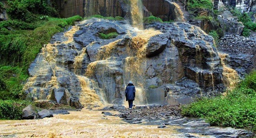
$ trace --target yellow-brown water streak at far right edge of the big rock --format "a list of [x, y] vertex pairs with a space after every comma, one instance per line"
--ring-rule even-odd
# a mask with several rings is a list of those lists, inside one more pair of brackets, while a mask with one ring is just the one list
[[224, 60], [227, 58], [227, 54], [219, 53], [221, 59], [221, 65], [223, 67], [223, 83], [228, 88], [228, 90], [232, 90], [235, 88], [237, 83], [239, 82], [239, 76], [236, 70], [231, 69], [225, 65]]

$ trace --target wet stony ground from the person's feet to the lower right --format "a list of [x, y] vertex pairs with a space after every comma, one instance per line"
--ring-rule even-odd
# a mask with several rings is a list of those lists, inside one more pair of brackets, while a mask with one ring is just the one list
[[244, 129], [213, 127], [204, 119], [183, 117], [178, 105], [135, 106], [131, 113], [124, 106], [104, 107], [101, 110], [119, 111], [120, 114], [115, 116], [123, 118], [130, 124], [158, 125], [157, 128], [159, 129], [180, 126], [181, 128], [178, 128], [177, 131], [184, 133], [186, 137], [197, 138], [190, 134], [214, 138], [247, 138], [253, 136], [252, 132]]

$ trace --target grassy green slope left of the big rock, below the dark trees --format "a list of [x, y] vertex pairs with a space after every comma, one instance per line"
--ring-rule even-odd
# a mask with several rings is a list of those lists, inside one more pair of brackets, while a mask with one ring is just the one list
[[[38, 24], [21, 20], [0, 23], [0, 32], [3, 32], [0, 34], [0, 119], [21, 119], [22, 109], [31, 104], [22, 91], [30, 63], [55, 33], [82, 20], [80, 16], [46, 18]], [[27, 24], [32, 27], [26, 27]], [[8, 26], [13, 30], [8, 30]]]

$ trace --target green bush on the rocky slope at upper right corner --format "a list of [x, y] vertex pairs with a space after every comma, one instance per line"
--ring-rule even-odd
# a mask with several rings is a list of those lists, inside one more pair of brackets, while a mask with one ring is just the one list
[[251, 13], [241, 13], [238, 9], [232, 9], [230, 10], [231, 13], [234, 16], [238, 17], [238, 21], [243, 22], [245, 28], [243, 30], [243, 36], [248, 37], [250, 35], [250, 30], [255, 31], [256, 32], [256, 23], [252, 21], [252, 19], [250, 18], [250, 14]]

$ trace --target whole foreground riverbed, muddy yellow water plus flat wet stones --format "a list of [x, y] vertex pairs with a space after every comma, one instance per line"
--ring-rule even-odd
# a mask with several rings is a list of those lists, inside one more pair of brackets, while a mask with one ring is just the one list
[[[141, 106], [135, 107], [130, 114], [125, 107], [107, 107], [101, 110], [70, 111], [67, 115], [39, 120], [0, 120], [0, 137], [243, 138], [251, 135], [242, 129], [210, 127], [202, 119], [182, 118], [177, 116], [177, 109], [179, 106]], [[142, 115], [145, 112], [148, 114]], [[123, 115], [127, 117], [120, 118]], [[132, 116], [136, 120], [128, 119]], [[152, 117], [155, 119], [150, 121]], [[136, 124], [134, 121], [141, 123]]]

